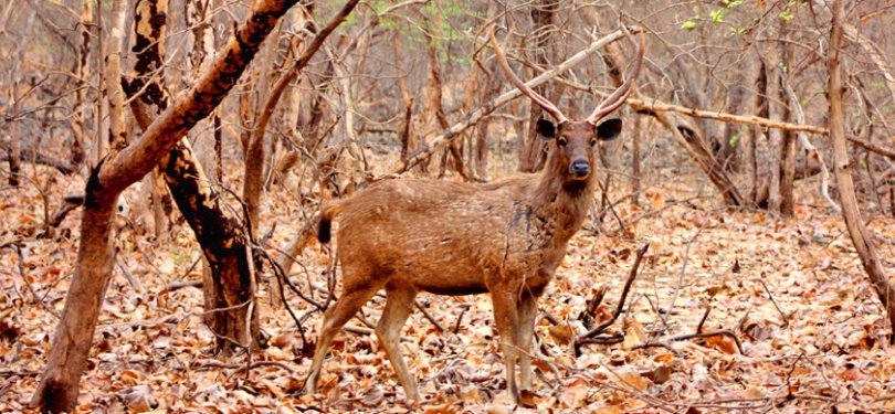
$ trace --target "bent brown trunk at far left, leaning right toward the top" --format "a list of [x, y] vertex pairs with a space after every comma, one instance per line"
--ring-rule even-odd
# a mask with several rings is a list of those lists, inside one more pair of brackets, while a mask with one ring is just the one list
[[81, 241], [65, 309], [32, 404], [44, 412], [71, 412], [112, 274], [110, 219], [118, 195], [149, 172], [190, 128], [227, 96], [259, 45], [295, 0], [259, 0], [225, 50], [194, 87], [179, 96], [131, 144], [94, 169], [85, 189]]

